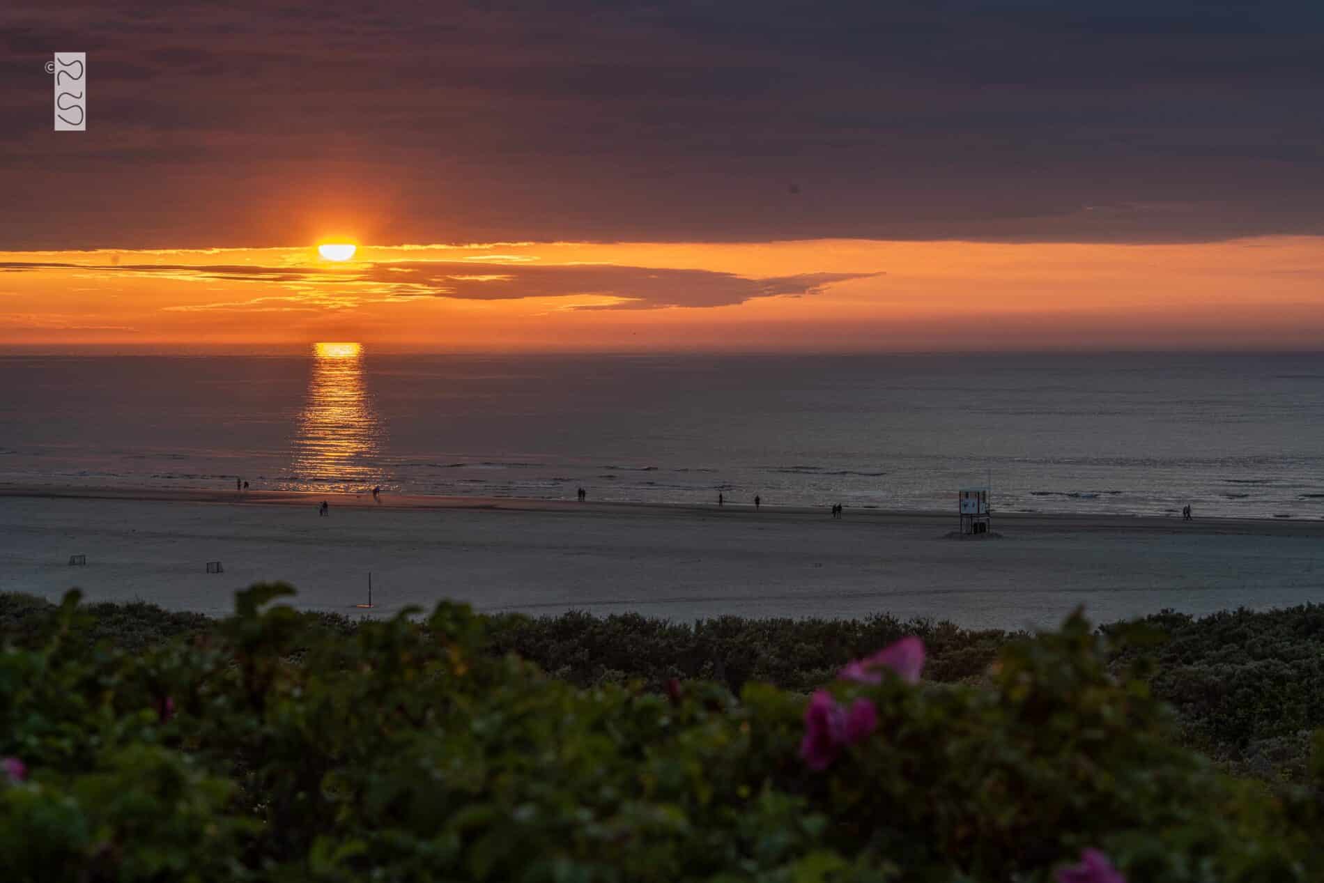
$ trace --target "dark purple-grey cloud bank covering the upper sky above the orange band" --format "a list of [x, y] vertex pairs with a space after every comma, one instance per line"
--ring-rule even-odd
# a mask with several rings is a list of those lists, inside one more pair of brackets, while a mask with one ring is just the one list
[[[0, 249], [1321, 233], [1317, 3], [0, 9]], [[50, 132], [53, 49], [89, 131]]]

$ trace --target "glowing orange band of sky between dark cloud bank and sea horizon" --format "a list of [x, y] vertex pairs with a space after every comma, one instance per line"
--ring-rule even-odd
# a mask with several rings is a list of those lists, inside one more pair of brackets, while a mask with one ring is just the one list
[[0, 344], [1317, 348], [1324, 238], [0, 253]]

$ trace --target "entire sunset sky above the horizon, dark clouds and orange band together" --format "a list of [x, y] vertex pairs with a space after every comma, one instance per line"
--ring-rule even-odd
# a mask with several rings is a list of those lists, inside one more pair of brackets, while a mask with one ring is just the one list
[[1317, 3], [20, 0], [0, 346], [1313, 349], [1321, 94]]

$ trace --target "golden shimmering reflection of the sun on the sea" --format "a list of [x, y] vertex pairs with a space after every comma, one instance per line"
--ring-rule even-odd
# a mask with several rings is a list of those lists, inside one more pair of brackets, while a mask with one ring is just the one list
[[363, 371], [363, 346], [312, 346], [312, 376], [299, 414], [294, 470], [312, 487], [363, 490], [377, 481], [381, 428]]

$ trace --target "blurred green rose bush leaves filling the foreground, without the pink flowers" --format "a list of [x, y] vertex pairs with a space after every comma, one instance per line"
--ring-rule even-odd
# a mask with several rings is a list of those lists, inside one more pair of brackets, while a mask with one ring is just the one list
[[[1296, 785], [1177, 744], [1151, 690], [1170, 659], [1144, 655], [1174, 653], [1147, 646], [1161, 620], [919, 624], [949, 683], [867, 686], [831, 682], [838, 658], [903, 624], [448, 602], [354, 624], [290, 593], [253, 586], [220, 621], [143, 606], [150, 626], [77, 593], [3, 598], [0, 756], [26, 777], [0, 781], [0, 876], [1046, 882], [1096, 847], [1132, 883], [1324, 879], [1324, 736]], [[716, 662], [726, 683], [649, 688]], [[824, 772], [800, 757], [810, 683], [878, 714]]]

